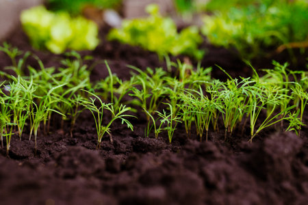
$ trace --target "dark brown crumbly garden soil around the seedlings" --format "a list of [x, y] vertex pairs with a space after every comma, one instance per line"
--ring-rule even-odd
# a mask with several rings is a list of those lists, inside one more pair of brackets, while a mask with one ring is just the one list
[[[92, 52], [94, 59], [107, 59], [112, 72], [129, 78], [127, 64], [138, 68], [165, 66], [155, 53], [107, 42]], [[7, 40], [19, 49], [33, 51], [44, 65], [60, 66], [61, 56], [34, 51], [22, 31]], [[233, 76], [248, 77], [252, 72], [235, 54], [207, 43], [202, 65], [218, 64]], [[305, 56], [298, 53], [298, 64], [305, 69]], [[297, 54], [296, 54], [297, 55]], [[274, 56], [284, 62], [284, 52]], [[183, 57], [181, 57], [183, 59]], [[304, 59], [304, 60], [303, 60]], [[36, 66], [29, 59], [29, 64]], [[0, 53], [0, 68], [10, 60]], [[270, 59], [254, 62], [257, 68], [272, 68]], [[219, 69], [213, 76], [224, 79]], [[92, 81], [107, 77], [103, 64], [92, 70]], [[0, 204], [307, 204], [308, 202], [308, 129], [301, 137], [267, 129], [248, 143], [247, 133], [235, 131], [227, 141], [221, 133], [209, 131], [209, 141], [186, 137], [183, 126], [168, 143], [164, 133], [159, 139], [145, 138], [144, 118], [132, 120], [135, 130], [112, 126], [113, 142], [103, 138], [96, 150], [94, 121], [82, 113], [73, 138], [59, 129], [57, 116], [51, 133], [38, 136], [38, 152], [27, 135], [13, 137], [10, 159], [5, 148], [0, 153]], [[305, 118], [308, 123], [307, 117]], [[67, 124], [68, 126], [68, 124]], [[69, 126], [68, 126], [69, 127]]]

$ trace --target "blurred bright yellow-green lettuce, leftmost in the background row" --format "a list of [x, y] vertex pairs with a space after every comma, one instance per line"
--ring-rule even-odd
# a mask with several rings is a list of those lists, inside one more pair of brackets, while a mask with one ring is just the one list
[[59, 54], [66, 49], [93, 50], [99, 44], [94, 22], [81, 16], [71, 18], [67, 12], [55, 14], [42, 5], [24, 10], [21, 23], [36, 49]]

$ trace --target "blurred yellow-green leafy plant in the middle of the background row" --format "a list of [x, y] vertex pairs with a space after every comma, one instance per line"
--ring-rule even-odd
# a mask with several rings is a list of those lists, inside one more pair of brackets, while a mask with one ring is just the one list
[[198, 50], [198, 44], [202, 42], [202, 38], [196, 27], [188, 27], [181, 33], [177, 33], [173, 20], [162, 17], [157, 5], [149, 5], [146, 11], [151, 16], [124, 20], [121, 28], [110, 31], [108, 39], [141, 46], [156, 52], [161, 58], [169, 53], [189, 55], [196, 59], [203, 57], [204, 52]]

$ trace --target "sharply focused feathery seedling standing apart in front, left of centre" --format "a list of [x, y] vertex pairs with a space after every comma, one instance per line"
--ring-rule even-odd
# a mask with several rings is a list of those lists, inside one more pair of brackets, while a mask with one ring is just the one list
[[[101, 148], [101, 139], [103, 139], [103, 135], [105, 133], [110, 135], [110, 141], [113, 141], [110, 131], [110, 126], [112, 125], [114, 120], [117, 119], [122, 120], [122, 124], [124, 123], [127, 124], [127, 127], [130, 128], [131, 131], [133, 131], [133, 125], [131, 124], [131, 122], [129, 122], [129, 120], [125, 119], [129, 117], [134, 117], [133, 115], [126, 114], [126, 112], [131, 109], [130, 107], [126, 107], [125, 105], [120, 105], [120, 108], [116, 113], [111, 103], [106, 104], [96, 94], [93, 94], [92, 92], [89, 92], [87, 90], [84, 91], [90, 94], [90, 96], [94, 97], [94, 98], [89, 98], [89, 100], [80, 100], [79, 103], [84, 107], [86, 107], [86, 109], [88, 109], [94, 117], [95, 126], [97, 128], [97, 148], [99, 149]], [[95, 105], [94, 103], [95, 100], [99, 100], [99, 106]], [[110, 111], [110, 113], [112, 113], [112, 119], [105, 126], [103, 124], [104, 110]]]

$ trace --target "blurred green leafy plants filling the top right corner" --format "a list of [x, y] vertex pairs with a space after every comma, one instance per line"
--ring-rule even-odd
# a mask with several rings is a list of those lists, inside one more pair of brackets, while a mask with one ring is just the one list
[[[235, 47], [244, 59], [266, 55], [266, 49], [308, 40], [307, 3], [260, 3], [205, 16], [203, 34], [218, 46]], [[290, 46], [287, 46], [290, 47]]]

